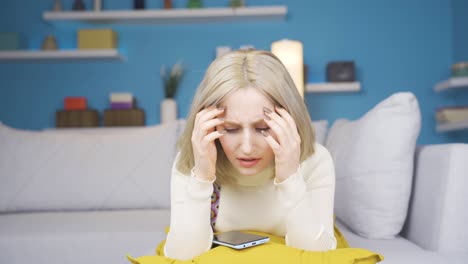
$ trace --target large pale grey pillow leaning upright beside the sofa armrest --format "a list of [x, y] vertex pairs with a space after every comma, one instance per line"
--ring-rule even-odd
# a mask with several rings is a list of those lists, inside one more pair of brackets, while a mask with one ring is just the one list
[[326, 147], [336, 168], [335, 214], [355, 233], [393, 238], [402, 229], [421, 126], [412, 93], [396, 93], [362, 118], [337, 120]]

